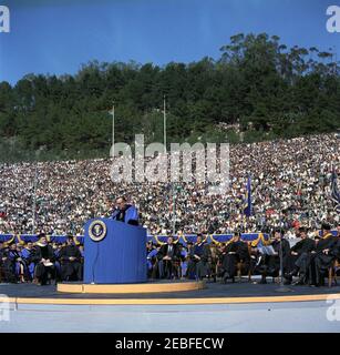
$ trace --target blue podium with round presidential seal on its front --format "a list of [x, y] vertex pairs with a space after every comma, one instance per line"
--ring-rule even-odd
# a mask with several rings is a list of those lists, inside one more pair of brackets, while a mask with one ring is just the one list
[[85, 284], [147, 281], [145, 229], [111, 219], [90, 220], [84, 229]]

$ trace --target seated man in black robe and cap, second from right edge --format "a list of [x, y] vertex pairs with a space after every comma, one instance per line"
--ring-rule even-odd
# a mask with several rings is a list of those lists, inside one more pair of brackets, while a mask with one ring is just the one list
[[298, 236], [301, 239], [295, 244], [287, 257], [287, 264], [289, 272], [285, 274], [286, 283], [290, 284], [293, 276], [299, 275], [299, 280], [295, 285], [303, 285], [308, 273], [308, 260], [309, 254], [316, 248], [316, 242], [308, 237], [307, 229], [301, 226], [298, 232]]

